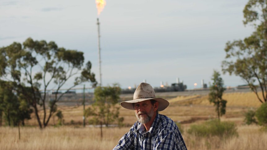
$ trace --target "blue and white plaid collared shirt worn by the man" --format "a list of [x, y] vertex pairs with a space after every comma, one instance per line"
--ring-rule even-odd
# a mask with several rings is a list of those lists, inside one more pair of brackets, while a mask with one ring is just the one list
[[113, 150], [187, 150], [177, 125], [162, 114], [157, 114], [150, 130], [135, 122]]

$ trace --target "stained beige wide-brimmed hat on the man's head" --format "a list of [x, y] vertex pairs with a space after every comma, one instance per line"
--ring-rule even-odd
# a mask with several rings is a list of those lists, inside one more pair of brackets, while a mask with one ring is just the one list
[[141, 83], [134, 92], [134, 99], [131, 101], [123, 101], [120, 105], [126, 109], [134, 110], [134, 103], [146, 100], [155, 100], [159, 102], [158, 111], [162, 111], [169, 106], [169, 102], [163, 98], [156, 98], [155, 91], [150, 84]]

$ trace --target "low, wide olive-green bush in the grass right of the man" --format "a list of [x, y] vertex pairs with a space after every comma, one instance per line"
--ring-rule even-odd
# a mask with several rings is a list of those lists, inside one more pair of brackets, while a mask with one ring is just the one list
[[199, 137], [218, 136], [224, 139], [238, 136], [234, 122], [219, 122], [218, 120], [207, 121], [199, 125], [191, 125], [187, 132]]

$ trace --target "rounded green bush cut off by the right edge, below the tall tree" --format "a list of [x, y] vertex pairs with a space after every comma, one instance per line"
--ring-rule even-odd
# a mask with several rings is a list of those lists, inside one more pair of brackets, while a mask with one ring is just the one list
[[260, 108], [256, 110], [256, 117], [262, 126], [267, 126], [267, 103], [261, 104]]

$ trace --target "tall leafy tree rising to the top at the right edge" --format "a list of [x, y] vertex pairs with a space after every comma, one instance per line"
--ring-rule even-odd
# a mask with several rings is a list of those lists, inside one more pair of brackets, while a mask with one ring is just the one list
[[[255, 31], [243, 40], [226, 43], [226, 57], [222, 62], [222, 71], [241, 77], [256, 94], [258, 100], [266, 103], [267, 3], [263, 0], [249, 0], [243, 14], [244, 25], [251, 24]], [[259, 96], [258, 88], [260, 88], [262, 96]]]

